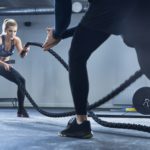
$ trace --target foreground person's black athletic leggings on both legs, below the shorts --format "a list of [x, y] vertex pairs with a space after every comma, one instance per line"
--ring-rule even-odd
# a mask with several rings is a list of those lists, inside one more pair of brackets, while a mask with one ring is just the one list
[[[87, 60], [110, 34], [79, 26], [74, 34], [69, 51], [69, 80], [77, 115], [87, 114], [89, 82]], [[150, 79], [150, 46], [137, 42], [135, 45], [139, 65]]]

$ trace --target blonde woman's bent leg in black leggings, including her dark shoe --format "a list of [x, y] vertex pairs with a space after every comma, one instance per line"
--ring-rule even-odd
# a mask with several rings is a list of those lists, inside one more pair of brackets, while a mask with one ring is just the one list
[[9, 71], [6, 71], [3, 66], [0, 67], [0, 75], [11, 82], [14, 82], [18, 86], [18, 117], [29, 117], [24, 108], [25, 94], [21, 90], [21, 88], [25, 88], [25, 79], [14, 68], [10, 68]]

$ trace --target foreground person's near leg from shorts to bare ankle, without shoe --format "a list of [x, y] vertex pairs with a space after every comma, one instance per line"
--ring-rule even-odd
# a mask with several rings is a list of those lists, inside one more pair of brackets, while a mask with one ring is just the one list
[[89, 92], [87, 60], [92, 52], [108, 37], [109, 34], [82, 26], [79, 26], [74, 34], [69, 51], [69, 78], [79, 123], [87, 119], [87, 97]]

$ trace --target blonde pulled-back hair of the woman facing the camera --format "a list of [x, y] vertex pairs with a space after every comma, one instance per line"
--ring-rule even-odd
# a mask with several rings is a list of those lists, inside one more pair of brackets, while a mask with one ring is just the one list
[[18, 24], [17, 24], [16, 20], [10, 19], [10, 18], [5, 19], [5, 20], [3, 21], [3, 24], [2, 24], [2, 34], [5, 34], [5, 33], [6, 33], [5, 31], [6, 31], [10, 26], [16, 26], [16, 27], [18, 27]]

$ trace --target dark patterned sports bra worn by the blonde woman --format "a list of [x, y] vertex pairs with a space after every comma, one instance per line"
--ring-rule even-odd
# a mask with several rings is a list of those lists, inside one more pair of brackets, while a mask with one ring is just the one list
[[10, 50], [5, 50], [5, 35], [2, 35], [2, 44], [0, 45], [0, 57], [8, 57], [14, 54], [14, 42], [11, 42]]

